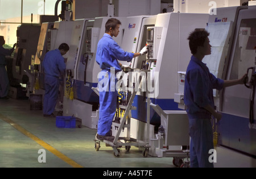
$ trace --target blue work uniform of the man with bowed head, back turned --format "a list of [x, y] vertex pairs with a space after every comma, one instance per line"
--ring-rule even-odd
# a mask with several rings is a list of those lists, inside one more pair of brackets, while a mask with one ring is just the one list
[[43, 114], [51, 115], [55, 110], [59, 95], [59, 77], [61, 74], [65, 74], [66, 66], [59, 49], [47, 52], [42, 65], [45, 89]]

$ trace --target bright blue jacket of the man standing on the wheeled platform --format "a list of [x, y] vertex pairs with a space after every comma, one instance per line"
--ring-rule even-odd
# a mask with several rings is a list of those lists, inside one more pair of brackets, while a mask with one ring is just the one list
[[109, 34], [104, 34], [98, 41], [96, 62], [101, 69], [110, 70], [110, 67], [114, 67], [115, 71], [119, 72], [121, 71], [121, 66], [117, 60], [129, 62], [133, 59], [133, 56], [134, 53], [123, 51]]

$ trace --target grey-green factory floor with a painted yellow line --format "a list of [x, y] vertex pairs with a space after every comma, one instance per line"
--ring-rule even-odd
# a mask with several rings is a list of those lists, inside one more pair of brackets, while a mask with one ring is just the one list
[[[0, 167], [175, 167], [172, 158], [145, 158], [137, 147], [131, 147], [130, 152], [122, 147], [122, 156], [118, 158], [113, 156], [113, 149], [105, 147], [104, 143], [96, 152], [93, 141], [96, 132], [85, 126], [57, 128], [56, 118], [43, 117], [42, 110], [30, 110], [28, 99], [0, 99]], [[255, 163], [250, 157], [238, 160], [230, 157], [227, 160], [226, 156], [234, 152], [223, 148], [217, 148], [217, 152], [221, 154], [217, 156], [216, 167], [250, 167]]]

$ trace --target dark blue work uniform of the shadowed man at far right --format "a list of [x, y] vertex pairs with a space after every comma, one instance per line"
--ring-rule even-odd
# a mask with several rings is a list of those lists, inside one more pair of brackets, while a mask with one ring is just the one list
[[191, 136], [191, 167], [213, 167], [209, 162], [210, 149], [213, 147], [213, 129], [211, 114], [204, 107], [214, 109], [213, 89], [221, 90], [224, 80], [216, 78], [206, 64], [191, 57], [185, 75], [184, 103], [189, 118], [189, 135]]

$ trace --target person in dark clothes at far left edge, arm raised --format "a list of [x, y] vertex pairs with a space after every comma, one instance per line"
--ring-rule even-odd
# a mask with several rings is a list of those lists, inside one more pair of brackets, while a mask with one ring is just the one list
[[11, 49], [3, 48], [5, 44], [5, 38], [0, 36], [0, 99], [8, 99], [7, 94], [9, 91], [9, 78], [6, 72], [6, 59], [5, 56], [11, 55], [13, 53], [16, 43]]

